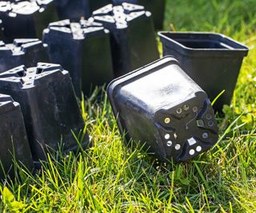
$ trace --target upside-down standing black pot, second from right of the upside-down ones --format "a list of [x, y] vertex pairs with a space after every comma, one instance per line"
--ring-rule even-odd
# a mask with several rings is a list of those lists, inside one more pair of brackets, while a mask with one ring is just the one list
[[78, 97], [81, 89], [89, 96], [95, 86], [114, 78], [110, 33], [102, 24], [54, 22], [44, 30], [43, 41], [49, 45], [51, 61], [69, 70]]

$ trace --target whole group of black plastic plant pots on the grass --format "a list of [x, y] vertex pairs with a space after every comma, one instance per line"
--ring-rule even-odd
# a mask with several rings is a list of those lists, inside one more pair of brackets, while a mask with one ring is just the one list
[[88, 148], [79, 99], [107, 84], [127, 143], [167, 162], [214, 146], [214, 112], [230, 104], [248, 49], [222, 34], [159, 32], [159, 59], [154, 29], [162, 29], [165, 4], [0, 2], [0, 179], [40, 168], [48, 152]]

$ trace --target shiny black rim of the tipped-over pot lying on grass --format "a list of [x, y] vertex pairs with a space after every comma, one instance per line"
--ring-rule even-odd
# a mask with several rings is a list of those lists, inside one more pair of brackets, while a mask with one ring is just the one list
[[[177, 64], [178, 61], [172, 56], [166, 56], [158, 59], [157, 61], [153, 61], [148, 65], [144, 65], [139, 69], [135, 69], [130, 73], [126, 73], [122, 77], [115, 78], [110, 81], [109, 85], [106, 88], [107, 97], [109, 98], [110, 105], [112, 107], [112, 111], [114, 113], [114, 117], [118, 122], [118, 127], [120, 132], [125, 133], [126, 125], [122, 123], [122, 120], [118, 116], [118, 105], [116, 101], [114, 101], [114, 93], [118, 86], [122, 86], [125, 83], [129, 83], [129, 81], [136, 80], [138, 77], [143, 76], [144, 73], [154, 73], [156, 72], [156, 68], [164, 67], [165, 65]], [[126, 140], [129, 141], [129, 137], [126, 136]]]

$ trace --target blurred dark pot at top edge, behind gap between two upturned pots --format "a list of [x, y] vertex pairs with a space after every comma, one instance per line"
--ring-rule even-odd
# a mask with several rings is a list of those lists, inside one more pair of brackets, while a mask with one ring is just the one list
[[90, 18], [94, 10], [110, 3], [110, 0], [56, 0], [58, 16], [79, 22], [80, 18]]

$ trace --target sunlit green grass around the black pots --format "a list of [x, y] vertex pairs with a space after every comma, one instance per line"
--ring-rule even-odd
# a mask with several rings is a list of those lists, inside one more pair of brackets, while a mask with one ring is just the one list
[[94, 147], [49, 156], [36, 176], [0, 184], [4, 212], [256, 212], [256, 4], [167, 0], [166, 30], [214, 31], [250, 46], [220, 140], [187, 164], [161, 164], [123, 144], [110, 105], [82, 102]]

